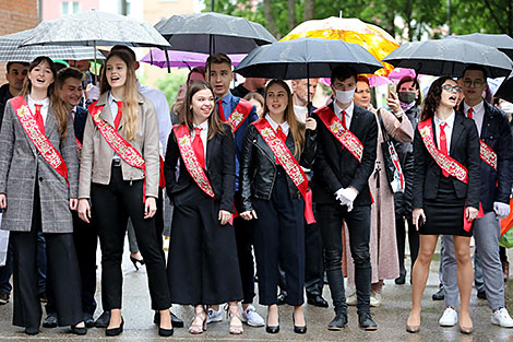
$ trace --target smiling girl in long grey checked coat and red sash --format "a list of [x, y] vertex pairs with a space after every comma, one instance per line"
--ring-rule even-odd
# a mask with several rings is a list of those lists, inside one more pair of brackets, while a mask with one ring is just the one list
[[70, 210], [76, 210], [79, 160], [73, 123], [55, 93], [56, 66], [36, 58], [21, 93], [8, 102], [0, 133], [2, 229], [14, 250], [13, 325], [37, 334], [37, 235], [46, 238], [47, 281], [59, 326], [85, 334]]

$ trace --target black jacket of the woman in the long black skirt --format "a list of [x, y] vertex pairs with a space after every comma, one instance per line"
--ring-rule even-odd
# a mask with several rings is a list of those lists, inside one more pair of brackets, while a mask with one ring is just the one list
[[[223, 125], [226, 134], [216, 134], [206, 143], [206, 177], [214, 190], [215, 198], [220, 201], [220, 210], [234, 212], [235, 193], [235, 143], [234, 134], [228, 125]], [[178, 180], [176, 166], [180, 160]], [[188, 187], [198, 186], [183, 164], [178, 148], [175, 130], [171, 130], [167, 141], [166, 160], [164, 162], [166, 191], [169, 199], [179, 194]]]

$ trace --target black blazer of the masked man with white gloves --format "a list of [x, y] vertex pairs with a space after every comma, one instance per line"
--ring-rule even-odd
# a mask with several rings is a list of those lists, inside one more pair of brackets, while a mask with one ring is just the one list
[[[329, 107], [333, 110], [333, 104]], [[335, 191], [351, 186], [358, 190], [354, 205], [372, 204], [369, 177], [374, 170], [375, 163], [378, 141], [375, 116], [355, 105], [349, 130], [363, 144], [361, 163], [347, 149], [343, 149], [343, 145], [321, 121], [317, 111], [312, 117], [318, 125], [318, 154], [313, 164], [312, 178], [313, 200], [318, 203], [337, 203]]]

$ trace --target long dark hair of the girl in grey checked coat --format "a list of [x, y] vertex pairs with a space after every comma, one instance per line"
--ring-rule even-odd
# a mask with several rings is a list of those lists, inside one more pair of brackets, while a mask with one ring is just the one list
[[[64, 102], [60, 98], [60, 96], [57, 94], [57, 91], [56, 91], [56, 81], [57, 81], [56, 63], [53, 63], [53, 61], [49, 57], [39, 56], [39, 57], [36, 57], [31, 62], [31, 64], [28, 66], [28, 72], [34, 70], [37, 66], [40, 66], [45, 62], [48, 64], [48, 67], [50, 67], [51, 73], [53, 74], [53, 82], [51, 82], [50, 85], [48, 85], [46, 94], [50, 98], [50, 105], [53, 111], [56, 113], [57, 127], [60, 131], [60, 139], [62, 141], [65, 139], [65, 135], [67, 135], [68, 116], [70, 115], [70, 113], [68, 111], [68, 108]], [[31, 91], [32, 91], [32, 81], [28, 79], [28, 76], [26, 76], [20, 95], [25, 97], [28, 94], [31, 94]]]

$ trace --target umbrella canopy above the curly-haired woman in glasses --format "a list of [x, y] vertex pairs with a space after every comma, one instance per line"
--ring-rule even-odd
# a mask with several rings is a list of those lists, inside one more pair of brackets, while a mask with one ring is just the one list
[[489, 78], [510, 74], [513, 62], [496, 48], [463, 39], [405, 43], [383, 61], [417, 73], [461, 76], [469, 64], [482, 66]]

